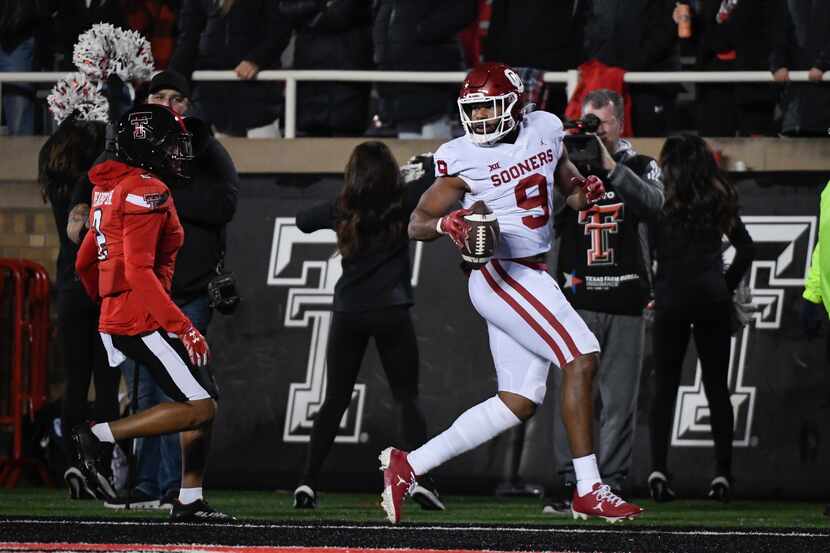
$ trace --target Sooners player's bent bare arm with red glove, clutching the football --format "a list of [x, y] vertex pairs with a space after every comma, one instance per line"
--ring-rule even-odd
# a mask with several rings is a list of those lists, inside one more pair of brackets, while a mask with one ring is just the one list
[[[459, 233], [463, 233], [465, 209], [447, 212], [469, 192], [467, 184], [460, 177], [438, 177], [423, 193], [418, 205], [409, 218], [409, 238], [413, 240], [435, 240], [442, 234], [449, 234], [456, 244]], [[463, 240], [462, 240], [463, 241]]]

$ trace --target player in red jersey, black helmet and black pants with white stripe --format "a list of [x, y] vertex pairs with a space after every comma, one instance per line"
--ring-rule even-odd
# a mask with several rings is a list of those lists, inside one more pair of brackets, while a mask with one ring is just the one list
[[228, 520], [202, 497], [202, 477], [216, 389], [200, 371], [210, 356], [204, 336], [170, 299], [176, 253], [184, 240], [170, 190], [161, 180], [184, 176], [192, 157], [182, 118], [143, 105], [119, 122], [117, 159], [90, 171], [95, 186], [89, 227], [76, 270], [87, 293], [101, 302], [98, 330], [110, 365], [126, 357], [142, 363], [174, 402], [110, 423], [73, 430], [80, 466], [90, 485], [114, 497], [103, 476], [104, 442], [181, 432], [182, 487], [174, 522]]

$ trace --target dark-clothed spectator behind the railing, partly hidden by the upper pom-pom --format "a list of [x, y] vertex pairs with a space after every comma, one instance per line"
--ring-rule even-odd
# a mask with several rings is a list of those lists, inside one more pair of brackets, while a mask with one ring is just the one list
[[57, 50], [57, 66], [61, 71], [77, 71], [72, 52], [78, 36], [95, 23], [111, 23], [127, 28], [127, 14], [121, 0], [60, 0], [52, 17]]

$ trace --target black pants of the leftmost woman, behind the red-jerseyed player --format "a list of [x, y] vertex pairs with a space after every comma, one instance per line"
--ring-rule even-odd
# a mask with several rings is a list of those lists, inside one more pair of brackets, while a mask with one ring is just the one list
[[[118, 384], [121, 371], [107, 362], [98, 335], [98, 306], [78, 289], [58, 292], [58, 325], [63, 346], [66, 389], [63, 394], [61, 425], [68, 438], [72, 428], [92, 419], [108, 422], [118, 418]], [[95, 403], [87, 412], [90, 379], [95, 382]], [[72, 459], [71, 440], [65, 439]], [[70, 461], [71, 462], [71, 461]]]

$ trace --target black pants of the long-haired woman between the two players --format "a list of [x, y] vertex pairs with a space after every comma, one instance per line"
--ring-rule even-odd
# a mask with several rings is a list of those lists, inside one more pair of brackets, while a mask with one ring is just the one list
[[314, 419], [302, 482], [317, 487], [317, 477], [352, 399], [369, 338], [374, 337], [383, 370], [400, 411], [403, 446], [426, 441], [426, 421], [417, 404], [418, 344], [408, 307], [360, 313], [335, 312], [326, 350], [326, 398]]

